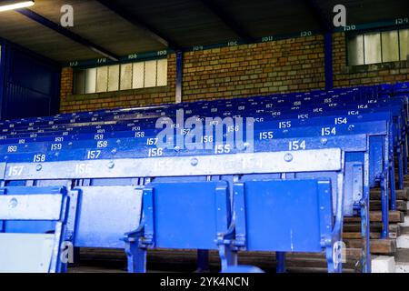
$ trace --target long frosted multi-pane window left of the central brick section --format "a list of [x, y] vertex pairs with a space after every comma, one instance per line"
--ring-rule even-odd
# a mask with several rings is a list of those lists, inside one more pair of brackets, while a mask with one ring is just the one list
[[78, 69], [74, 94], [93, 94], [167, 85], [167, 59]]

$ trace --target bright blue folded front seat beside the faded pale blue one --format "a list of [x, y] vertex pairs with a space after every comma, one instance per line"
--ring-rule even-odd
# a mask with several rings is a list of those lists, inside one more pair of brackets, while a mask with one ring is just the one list
[[155, 247], [216, 249], [230, 226], [227, 183], [152, 183], [144, 189], [144, 236]]

